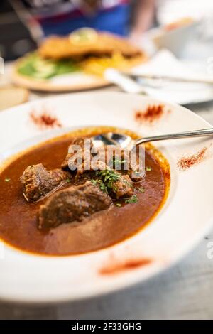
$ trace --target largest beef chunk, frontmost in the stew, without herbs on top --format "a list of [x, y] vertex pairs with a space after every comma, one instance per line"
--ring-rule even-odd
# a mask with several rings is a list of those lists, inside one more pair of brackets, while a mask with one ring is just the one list
[[111, 198], [99, 185], [87, 181], [52, 195], [45, 205], [40, 205], [38, 227], [57, 227], [62, 223], [82, 220], [92, 213], [109, 208]]

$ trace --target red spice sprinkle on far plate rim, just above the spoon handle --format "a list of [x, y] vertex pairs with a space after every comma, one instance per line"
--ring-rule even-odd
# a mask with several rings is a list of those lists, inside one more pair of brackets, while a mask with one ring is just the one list
[[163, 104], [149, 105], [146, 111], [142, 112], [137, 110], [135, 113], [135, 119], [137, 122], [149, 122], [153, 123], [163, 115], [164, 106]]

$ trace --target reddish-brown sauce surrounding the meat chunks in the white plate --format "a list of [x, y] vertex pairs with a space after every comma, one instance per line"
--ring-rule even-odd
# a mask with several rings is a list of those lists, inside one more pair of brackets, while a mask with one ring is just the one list
[[[104, 130], [105, 129], [105, 130]], [[79, 136], [120, 131], [111, 127], [80, 130]], [[129, 131], [124, 133], [137, 136]], [[170, 168], [163, 156], [148, 146], [146, 166], [149, 171], [140, 183], [134, 184], [137, 203], [121, 207], [111, 205], [82, 222], [62, 224], [48, 231], [38, 230], [38, 210], [45, 200], [27, 203], [19, 181], [29, 165], [43, 163], [48, 169], [59, 168], [70, 144], [69, 136], [46, 141], [16, 156], [0, 173], [0, 238], [13, 247], [43, 255], [70, 255], [93, 252], [131, 237], [158, 213], [168, 195]], [[163, 161], [163, 162], [162, 162]], [[141, 193], [140, 188], [144, 188]], [[127, 262], [126, 267], [142, 265], [142, 260]], [[122, 264], [124, 266], [124, 264]]]

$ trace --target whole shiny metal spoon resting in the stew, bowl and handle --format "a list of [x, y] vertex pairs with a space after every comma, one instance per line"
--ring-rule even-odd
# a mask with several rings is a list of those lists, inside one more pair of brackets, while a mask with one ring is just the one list
[[107, 134], [100, 134], [99, 136], [92, 137], [92, 141], [95, 147], [104, 145], [116, 145], [121, 148], [133, 149], [134, 146], [139, 144], [148, 143], [149, 141], [160, 141], [167, 139], [180, 139], [180, 138], [194, 138], [201, 136], [210, 136], [213, 134], [213, 128], [202, 129], [194, 131], [179, 132], [178, 134], [161, 134], [160, 136], [144, 137], [134, 141], [130, 136], [126, 134], [116, 134], [114, 132], [108, 132]]

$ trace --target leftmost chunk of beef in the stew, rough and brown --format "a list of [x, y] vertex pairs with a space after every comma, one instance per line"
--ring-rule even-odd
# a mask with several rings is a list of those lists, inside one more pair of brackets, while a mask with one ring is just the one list
[[48, 171], [42, 163], [28, 166], [20, 180], [23, 185], [23, 195], [28, 202], [35, 202], [60, 188], [70, 181], [72, 176], [62, 169]]

